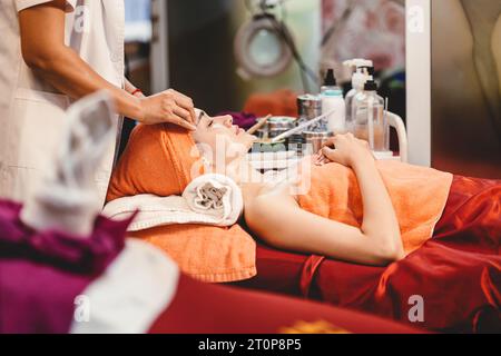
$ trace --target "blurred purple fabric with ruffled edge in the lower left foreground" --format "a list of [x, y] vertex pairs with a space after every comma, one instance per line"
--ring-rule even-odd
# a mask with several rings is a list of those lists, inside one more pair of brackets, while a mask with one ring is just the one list
[[131, 219], [98, 217], [91, 236], [35, 231], [0, 200], [0, 334], [68, 333], [75, 298], [122, 250]]

